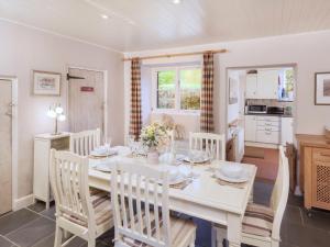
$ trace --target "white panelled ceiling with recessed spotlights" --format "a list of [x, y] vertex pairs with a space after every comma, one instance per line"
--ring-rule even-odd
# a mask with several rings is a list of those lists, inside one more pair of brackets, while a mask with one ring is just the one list
[[328, 30], [330, 0], [0, 0], [0, 18], [132, 52]]

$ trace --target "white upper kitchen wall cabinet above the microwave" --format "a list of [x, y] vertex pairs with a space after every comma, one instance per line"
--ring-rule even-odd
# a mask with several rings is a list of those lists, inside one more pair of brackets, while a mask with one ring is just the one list
[[278, 69], [258, 69], [257, 74], [246, 76], [246, 99], [278, 98]]

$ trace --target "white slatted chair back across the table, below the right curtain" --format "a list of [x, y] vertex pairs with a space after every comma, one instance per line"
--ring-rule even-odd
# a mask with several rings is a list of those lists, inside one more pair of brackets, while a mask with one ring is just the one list
[[226, 160], [226, 136], [213, 133], [189, 133], [189, 149], [213, 151], [215, 159]]

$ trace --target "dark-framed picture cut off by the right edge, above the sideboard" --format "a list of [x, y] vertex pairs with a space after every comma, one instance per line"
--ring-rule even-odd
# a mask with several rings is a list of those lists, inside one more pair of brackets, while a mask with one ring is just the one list
[[330, 105], [330, 72], [315, 74], [315, 104]]

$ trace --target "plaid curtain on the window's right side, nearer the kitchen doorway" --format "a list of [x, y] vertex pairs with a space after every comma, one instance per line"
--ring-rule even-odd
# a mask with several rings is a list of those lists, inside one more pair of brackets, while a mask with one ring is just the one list
[[213, 132], [213, 54], [204, 54], [200, 100], [200, 131]]

